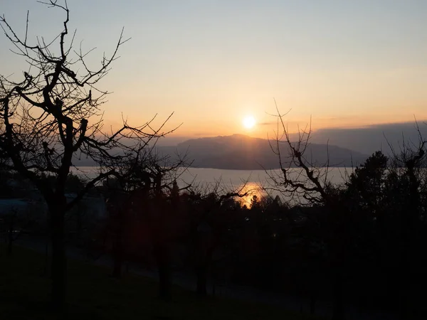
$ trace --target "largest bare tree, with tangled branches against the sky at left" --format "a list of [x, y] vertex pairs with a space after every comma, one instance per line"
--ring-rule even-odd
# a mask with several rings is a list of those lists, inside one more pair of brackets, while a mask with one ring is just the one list
[[[14, 46], [13, 52], [28, 63], [21, 80], [0, 75], [0, 156], [1, 165], [28, 178], [43, 195], [48, 206], [52, 242], [52, 298], [62, 309], [65, 302], [65, 233], [64, 215], [98, 182], [115, 173], [126, 159], [135, 158], [149, 144], [163, 137], [163, 122], [157, 129], [154, 118], [139, 127], [127, 121], [115, 132], [102, 127], [100, 106], [107, 91], [97, 87], [118, 58], [119, 48], [127, 41], [120, 34], [112, 55], [103, 56], [97, 68], [90, 68], [80, 46], [73, 48], [75, 32], [69, 34], [70, 11], [66, 1], [40, 1], [65, 15], [63, 31], [48, 41], [20, 37], [5, 16], [0, 25]], [[168, 118], [169, 119], [169, 118]], [[86, 183], [78, 195], [68, 201], [65, 181], [78, 159], [90, 159], [99, 173]], [[54, 176], [53, 186], [41, 174]]]

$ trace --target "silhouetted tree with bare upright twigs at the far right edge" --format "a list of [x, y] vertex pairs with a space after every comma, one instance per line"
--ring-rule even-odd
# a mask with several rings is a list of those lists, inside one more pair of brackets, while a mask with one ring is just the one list
[[[422, 172], [426, 170], [426, 140], [423, 139], [418, 124], [418, 144], [403, 142], [400, 152], [392, 149], [394, 168], [390, 176], [395, 179], [399, 187], [399, 216], [400, 225], [398, 234], [398, 277], [397, 292], [399, 296], [399, 319], [418, 319], [416, 309], [416, 282], [420, 274], [417, 265], [421, 262], [422, 251], [417, 250], [421, 242], [423, 227]], [[396, 185], [395, 185], [396, 186]], [[425, 187], [425, 185], [424, 185]], [[400, 194], [399, 194], [400, 193]]]

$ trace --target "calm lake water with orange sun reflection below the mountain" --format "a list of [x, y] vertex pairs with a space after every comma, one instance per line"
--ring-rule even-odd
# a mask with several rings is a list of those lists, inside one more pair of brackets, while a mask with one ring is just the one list
[[[82, 166], [78, 167], [78, 170], [72, 170], [74, 174], [78, 174], [82, 177], [93, 178], [97, 174], [97, 168], [93, 166]], [[325, 169], [320, 169], [322, 174], [325, 174]], [[342, 184], [345, 181], [345, 177], [352, 172], [352, 169], [348, 168], [330, 168], [327, 172], [327, 181], [334, 184]], [[241, 193], [248, 193], [246, 197], [242, 199], [243, 203], [249, 204], [253, 195], [258, 197], [267, 196], [267, 193], [263, 191], [263, 188], [269, 189], [274, 186], [273, 181], [269, 176], [280, 177], [280, 170], [263, 171], [263, 170], [224, 170], [224, 169], [209, 169], [209, 168], [189, 168], [179, 173], [180, 176], [177, 180], [179, 186], [186, 186], [191, 183], [195, 188], [199, 188], [201, 191], [214, 191], [215, 189], [219, 192], [232, 192], [240, 191]], [[302, 179], [304, 176], [301, 174], [300, 169], [292, 169], [290, 173], [292, 178]], [[324, 178], [321, 179], [324, 181]], [[278, 191], [269, 189], [268, 194], [270, 196], [283, 196]], [[286, 199], [290, 200], [290, 199]]]

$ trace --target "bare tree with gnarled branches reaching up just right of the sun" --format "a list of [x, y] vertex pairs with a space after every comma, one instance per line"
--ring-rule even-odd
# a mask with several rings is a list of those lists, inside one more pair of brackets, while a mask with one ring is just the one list
[[316, 164], [307, 154], [312, 133], [311, 122], [298, 132], [298, 139], [292, 142], [284, 117], [276, 105], [278, 129], [270, 139], [270, 147], [278, 156], [280, 171], [266, 171], [270, 181], [267, 191], [278, 191], [285, 200], [302, 206], [315, 205], [327, 210], [328, 234], [325, 235], [329, 256], [334, 308], [332, 319], [344, 319], [343, 270], [346, 247], [346, 214], [339, 201], [339, 188], [328, 179], [330, 169], [329, 156], [325, 164]]

